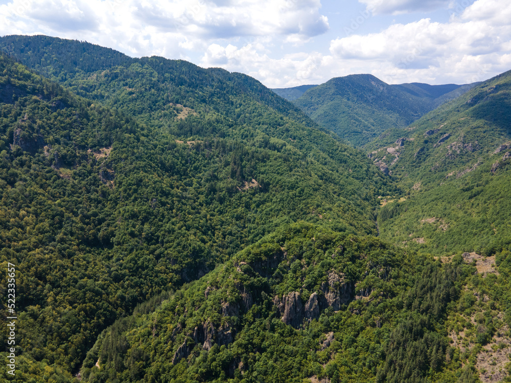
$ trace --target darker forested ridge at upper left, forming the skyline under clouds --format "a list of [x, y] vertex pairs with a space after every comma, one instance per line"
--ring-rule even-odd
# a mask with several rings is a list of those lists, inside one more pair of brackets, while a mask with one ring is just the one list
[[[176, 134], [176, 125], [188, 113], [198, 116], [200, 125], [221, 118], [223, 121], [215, 125], [239, 128], [254, 117], [262, 117], [258, 114], [268, 113], [268, 108], [276, 113], [263, 118], [280, 119], [284, 114], [305, 127], [319, 128], [259, 81], [219, 68], [204, 69], [161, 57], [131, 59], [94, 44], [48, 36], [1, 37], [0, 50], [83, 97]], [[92, 59], [95, 56], [100, 59]], [[262, 124], [260, 129], [272, 129], [267, 125]], [[239, 130], [224, 129], [222, 134], [239, 137]], [[215, 136], [217, 133], [211, 132]], [[275, 131], [265, 133], [274, 135]]]

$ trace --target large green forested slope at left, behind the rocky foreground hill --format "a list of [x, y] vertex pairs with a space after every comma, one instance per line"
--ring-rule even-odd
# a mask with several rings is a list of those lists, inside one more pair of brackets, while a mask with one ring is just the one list
[[[225, 101], [211, 111], [209, 101], [194, 99], [202, 108], [196, 115], [174, 105], [167, 123], [157, 118], [164, 113], [157, 105], [136, 109], [143, 96], [109, 109], [0, 60], [0, 262], [17, 267], [22, 381], [45, 373], [47, 381], [71, 381], [97, 334], [115, 319], [284, 223], [376, 233], [376, 197], [395, 191], [360, 152], [309, 120], [300, 124], [296, 118], [306, 116], [244, 75], [197, 69], [197, 76], [220, 73], [215, 81], [223, 93], [209, 94]], [[135, 75], [132, 65], [126, 70]], [[194, 78], [197, 67], [169, 65]], [[154, 71], [144, 67], [140, 78], [149, 79]], [[106, 85], [119, 90], [117, 84]], [[191, 94], [204, 94], [198, 83], [188, 84]], [[180, 87], [177, 98], [189, 94]], [[112, 104], [115, 97], [103, 93]], [[231, 100], [253, 110], [234, 121]]]

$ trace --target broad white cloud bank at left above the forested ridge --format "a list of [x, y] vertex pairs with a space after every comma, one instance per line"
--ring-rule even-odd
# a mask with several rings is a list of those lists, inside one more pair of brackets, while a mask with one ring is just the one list
[[222, 40], [303, 44], [329, 30], [320, 8], [319, 0], [12, 0], [0, 6], [0, 35], [42, 33], [131, 56], [200, 57]]

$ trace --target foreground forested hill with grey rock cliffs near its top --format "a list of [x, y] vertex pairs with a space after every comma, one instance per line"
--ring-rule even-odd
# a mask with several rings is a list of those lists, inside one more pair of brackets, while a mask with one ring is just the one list
[[446, 320], [450, 308], [465, 307], [469, 277], [484, 284], [475, 269], [461, 256], [442, 265], [377, 238], [283, 227], [104, 331], [82, 379], [474, 381], [462, 368], [469, 356], [447, 336], [461, 319]]

